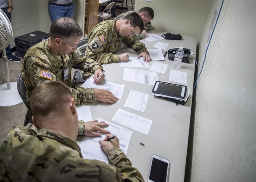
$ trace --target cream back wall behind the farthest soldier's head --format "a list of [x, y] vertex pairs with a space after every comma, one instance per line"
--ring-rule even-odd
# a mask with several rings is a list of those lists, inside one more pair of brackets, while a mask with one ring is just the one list
[[211, 2], [212, 0], [135, 0], [135, 11], [143, 7], [153, 8], [153, 29], [192, 36], [199, 43]]

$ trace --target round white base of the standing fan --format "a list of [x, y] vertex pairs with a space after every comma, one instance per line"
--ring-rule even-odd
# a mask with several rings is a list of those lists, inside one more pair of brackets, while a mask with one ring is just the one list
[[7, 84], [0, 85], [0, 106], [11, 106], [21, 103], [22, 99], [18, 94], [17, 83], [11, 82], [11, 90], [7, 90]]

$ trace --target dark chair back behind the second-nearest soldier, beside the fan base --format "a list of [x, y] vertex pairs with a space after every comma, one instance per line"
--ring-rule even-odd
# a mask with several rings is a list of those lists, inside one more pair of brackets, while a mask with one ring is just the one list
[[[26, 108], [28, 109], [30, 118], [32, 118], [33, 114], [32, 114], [29, 102], [28, 102], [28, 100], [26, 98], [26, 86], [25, 86], [25, 83], [24, 83], [24, 81], [23, 81], [23, 79], [21, 77], [21, 73], [18, 75], [17, 89], [18, 89], [18, 94], [21, 96], [21, 99], [23, 100], [24, 104], [26, 105]], [[23, 126], [26, 126], [29, 123], [29, 116], [26, 115]], [[29, 128], [31, 126], [32, 126], [32, 123], [30, 124]]]

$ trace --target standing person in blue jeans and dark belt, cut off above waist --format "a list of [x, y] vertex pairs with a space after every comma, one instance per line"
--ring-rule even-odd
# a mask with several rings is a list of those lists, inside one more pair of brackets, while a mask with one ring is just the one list
[[73, 0], [49, 0], [48, 13], [52, 23], [62, 17], [73, 18], [74, 12]]

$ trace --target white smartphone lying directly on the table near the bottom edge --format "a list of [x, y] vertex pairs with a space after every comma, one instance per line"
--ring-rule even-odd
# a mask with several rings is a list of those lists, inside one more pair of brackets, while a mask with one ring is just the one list
[[168, 182], [169, 161], [153, 155], [150, 162], [148, 182]]

